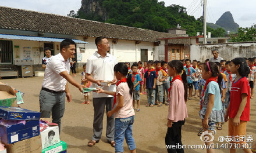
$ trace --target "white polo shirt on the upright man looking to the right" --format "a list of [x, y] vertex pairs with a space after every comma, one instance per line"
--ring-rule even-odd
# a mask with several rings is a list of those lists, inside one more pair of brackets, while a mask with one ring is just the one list
[[[106, 53], [105, 57], [102, 57], [96, 51], [92, 56], [89, 57], [86, 64], [86, 73], [91, 74], [96, 80], [112, 81], [114, 78], [114, 67], [118, 63], [116, 57], [112, 54]], [[98, 86], [93, 83], [93, 88], [102, 88], [104, 90], [109, 90], [115, 92], [116, 85], [110, 86]], [[100, 97], [113, 97], [105, 93], [95, 93], [93, 92], [94, 98]]]

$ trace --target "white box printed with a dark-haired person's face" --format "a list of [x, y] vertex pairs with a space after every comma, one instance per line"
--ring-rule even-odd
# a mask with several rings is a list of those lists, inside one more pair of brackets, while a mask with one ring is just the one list
[[59, 143], [59, 126], [48, 126], [41, 133], [42, 149]]

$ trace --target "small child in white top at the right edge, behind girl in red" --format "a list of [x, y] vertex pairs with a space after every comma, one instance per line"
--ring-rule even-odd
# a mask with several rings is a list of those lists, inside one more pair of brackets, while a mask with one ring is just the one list
[[253, 97], [253, 89], [254, 89], [254, 83], [255, 83], [255, 72], [256, 72], [256, 67], [253, 65], [254, 64], [254, 58], [250, 59], [248, 61], [249, 63], [249, 67], [251, 69], [250, 71], [250, 74], [248, 75], [248, 81], [249, 81], [249, 85], [250, 85], [250, 88], [251, 88], [251, 99], [254, 99]]

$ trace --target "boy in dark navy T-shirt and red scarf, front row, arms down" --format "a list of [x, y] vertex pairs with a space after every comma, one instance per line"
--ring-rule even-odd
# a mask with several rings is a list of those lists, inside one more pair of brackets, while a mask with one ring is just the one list
[[148, 71], [146, 71], [144, 75], [144, 90], [147, 88], [148, 97], [148, 104], [146, 104], [146, 107], [154, 107], [155, 105], [155, 82], [157, 80], [157, 73], [155, 72], [154, 68], [152, 68], [152, 64], [152, 61], [147, 62]]

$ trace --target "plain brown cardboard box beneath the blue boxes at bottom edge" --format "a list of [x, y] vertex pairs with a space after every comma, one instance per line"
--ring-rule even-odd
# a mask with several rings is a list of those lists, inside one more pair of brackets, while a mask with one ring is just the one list
[[5, 145], [7, 153], [40, 153], [42, 151], [41, 136], [32, 137], [14, 144]]

